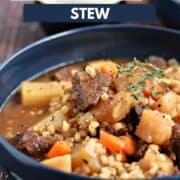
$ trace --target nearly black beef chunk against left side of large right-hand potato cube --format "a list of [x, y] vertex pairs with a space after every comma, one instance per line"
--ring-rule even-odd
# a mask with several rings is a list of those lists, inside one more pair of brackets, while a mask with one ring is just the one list
[[135, 131], [136, 126], [139, 124], [142, 111], [144, 109], [148, 109], [148, 107], [146, 105], [143, 105], [143, 104], [137, 104], [137, 105], [135, 105], [134, 108], [132, 108], [131, 112], [125, 118], [125, 122], [128, 125], [128, 131], [129, 132]]

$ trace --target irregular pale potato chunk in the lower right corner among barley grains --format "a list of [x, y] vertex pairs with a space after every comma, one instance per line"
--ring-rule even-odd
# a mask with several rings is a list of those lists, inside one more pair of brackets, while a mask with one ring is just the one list
[[156, 145], [150, 145], [144, 157], [139, 161], [139, 166], [144, 171], [149, 171], [153, 168], [153, 165], [156, 166], [157, 169], [155, 170], [154, 175], [159, 169], [166, 175], [172, 175], [174, 173], [173, 162], [168, 156], [161, 154]]

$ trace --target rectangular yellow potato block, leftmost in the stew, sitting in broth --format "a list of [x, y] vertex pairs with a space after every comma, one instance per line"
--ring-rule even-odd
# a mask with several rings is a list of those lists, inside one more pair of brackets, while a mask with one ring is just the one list
[[27, 82], [21, 84], [21, 97], [24, 106], [47, 106], [56, 96], [63, 96], [63, 89], [58, 82]]

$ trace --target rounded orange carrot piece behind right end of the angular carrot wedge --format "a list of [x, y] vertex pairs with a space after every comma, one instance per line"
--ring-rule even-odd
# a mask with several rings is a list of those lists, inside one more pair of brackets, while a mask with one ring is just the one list
[[123, 148], [124, 152], [129, 156], [133, 155], [136, 150], [135, 141], [133, 141], [133, 139], [128, 136], [120, 136], [119, 139], [122, 140], [125, 144], [125, 147]]

